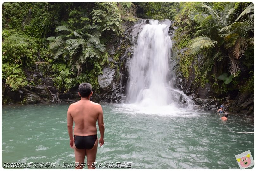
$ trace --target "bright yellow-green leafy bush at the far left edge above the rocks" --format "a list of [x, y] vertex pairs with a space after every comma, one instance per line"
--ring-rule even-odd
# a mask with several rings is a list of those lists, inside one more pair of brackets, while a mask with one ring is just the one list
[[2, 38], [2, 80], [14, 91], [27, 84], [23, 68], [34, 65], [38, 44], [15, 30], [3, 30]]

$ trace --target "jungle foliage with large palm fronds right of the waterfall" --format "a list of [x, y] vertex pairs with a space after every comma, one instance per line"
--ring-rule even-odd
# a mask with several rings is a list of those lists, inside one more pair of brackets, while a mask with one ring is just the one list
[[[186, 77], [195, 61], [200, 61], [197, 82], [210, 81], [218, 85], [216, 89], [227, 88], [226, 93], [240, 87], [243, 92], [254, 89], [250, 82], [243, 81], [250, 75], [254, 77], [253, 3], [183, 2], [181, 5], [183, 8], [176, 16], [179, 28], [175, 40], [178, 48], [189, 48], [180, 60], [191, 59], [180, 62], [183, 75]], [[247, 86], [241, 86], [244, 83]]]

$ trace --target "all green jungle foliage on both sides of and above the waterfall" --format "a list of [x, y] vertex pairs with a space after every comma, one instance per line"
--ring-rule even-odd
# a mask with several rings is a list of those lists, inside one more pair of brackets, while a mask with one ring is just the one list
[[[188, 77], [194, 66], [195, 81], [201, 85], [252, 89], [250, 2], [4, 2], [2, 94], [6, 88], [16, 91], [26, 86], [24, 71], [35, 69], [36, 62], [51, 68], [46, 72], [59, 91], [84, 81], [97, 89], [97, 76], [108, 63], [107, 42], [122, 36], [122, 22], [138, 18], [175, 20], [176, 47], [189, 48], [179, 56], [183, 76]], [[199, 60], [202, 66], [197, 66]]]

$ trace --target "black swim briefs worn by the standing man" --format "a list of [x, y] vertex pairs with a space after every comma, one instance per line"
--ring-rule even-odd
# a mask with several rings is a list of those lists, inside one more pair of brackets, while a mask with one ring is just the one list
[[78, 149], [91, 149], [93, 148], [96, 140], [97, 140], [97, 135], [90, 135], [90, 136], [74, 135], [75, 146]]

